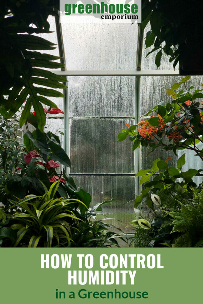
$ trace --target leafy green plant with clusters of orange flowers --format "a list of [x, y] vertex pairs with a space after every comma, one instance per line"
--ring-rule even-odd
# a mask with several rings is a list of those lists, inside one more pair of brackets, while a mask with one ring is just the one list
[[[201, 99], [203, 89], [196, 89], [193, 94], [193, 86], [186, 87], [185, 82], [190, 79], [186, 76], [179, 83], [174, 83], [172, 88], [167, 88], [166, 93], [170, 95], [172, 102], [164, 101], [149, 110], [142, 117], [155, 113], [151, 118], [144, 118], [138, 125], [129, 126], [118, 134], [118, 140], [127, 138], [133, 142], [133, 150], [140, 147], [151, 148], [150, 152], [162, 147], [164, 150], [173, 150], [177, 155], [177, 150], [193, 150], [198, 157], [203, 160], [203, 148], [198, 143], [203, 143], [203, 106]], [[175, 91], [184, 84], [185, 92]], [[200, 99], [200, 100], [198, 100]], [[137, 131], [135, 131], [137, 129]]]

